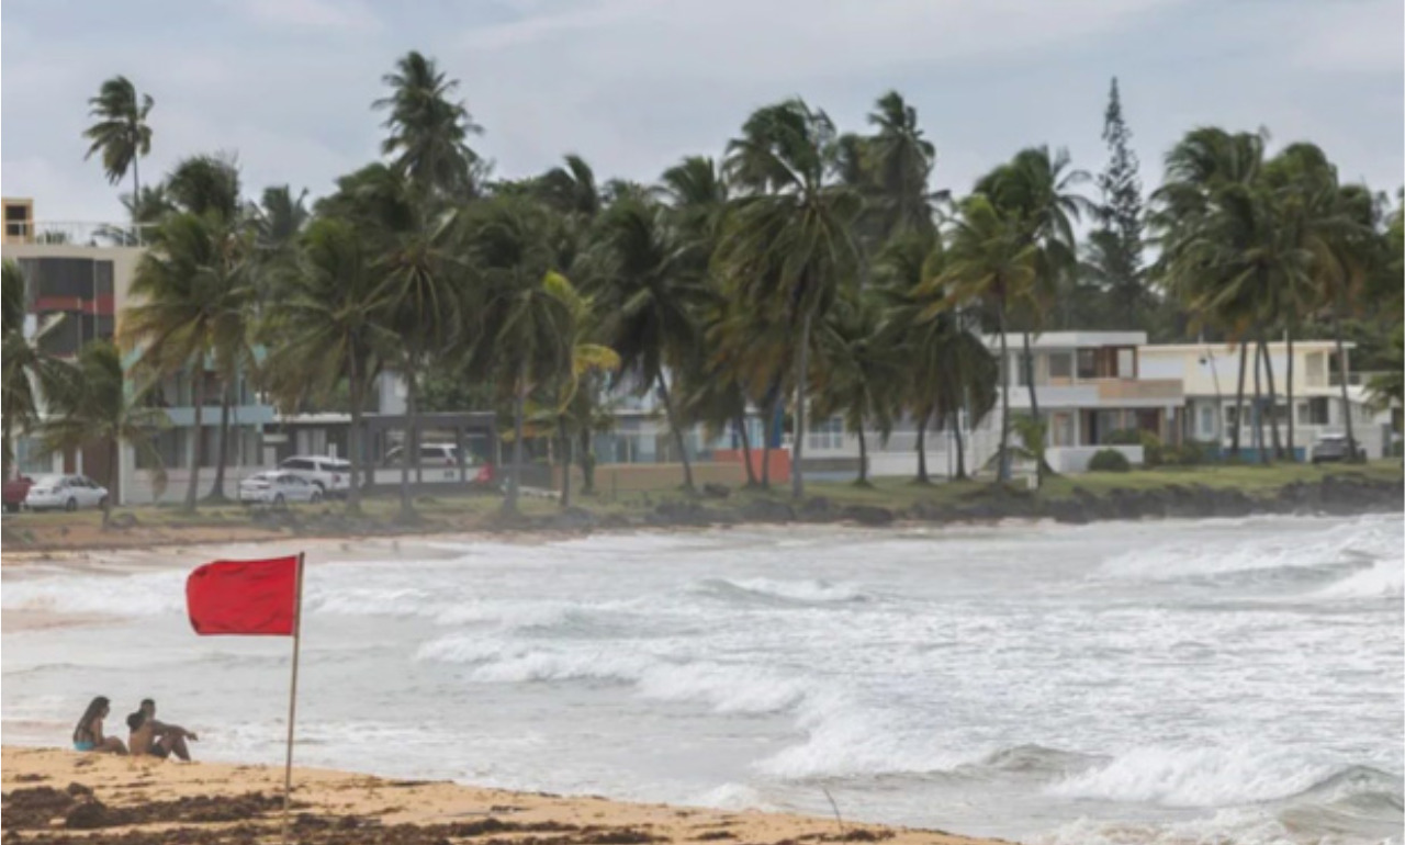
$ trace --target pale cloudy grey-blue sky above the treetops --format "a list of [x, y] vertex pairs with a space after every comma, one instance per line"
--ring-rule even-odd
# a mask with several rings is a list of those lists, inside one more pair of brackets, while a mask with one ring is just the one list
[[244, 191], [313, 197], [378, 156], [371, 101], [417, 49], [452, 79], [499, 177], [577, 153], [603, 182], [721, 156], [746, 115], [791, 95], [867, 131], [888, 90], [937, 147], [933, 188], [965, 192], [1031, 145], [1096, 173], [1118, 79], [1148, 188], [1189, 129], [1267, 128], [1321, 145], [1343, 180], [1405, 182], [1401, 0], [6, 0], [0, 188], [35, 219], [118, 220], [84, 161], [87, 98], [125, 74], [156, 100], [142, 178], [235, 153]]

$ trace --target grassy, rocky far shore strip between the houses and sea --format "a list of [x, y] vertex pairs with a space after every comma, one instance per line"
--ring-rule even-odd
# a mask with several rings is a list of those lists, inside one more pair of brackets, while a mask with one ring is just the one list
[[[1243, 467], [1241, 467], [1243, 469]], [[201, 546], [261, 546], [273, 542], [337, 545], [341, 553], [370, 553], [396, 547], [400, 540], [430, 538], [492, 539], [542, 543], [593, 533], [687, 531], [739, 525], [835, 525], [861, 528], [917, 528], [992, 525], [1002, 521], [1041, 521], [1085, 525], [1104, 521], [1215, 518], [1252, 515], [1354, 515], [1405, 510], [1405, 486], [1398, 465], [1319, 470], [1294, 467], [1287, 480], [1269, 484], [1224, 483], [1215, 472], [1127, 473], [1096, 479], [1059, 477], [1038, 493], [988, 483], [910, 484], [857, 488], [815, 486], [798, 507], [788, 497], [736, 491], [736, 495], [686, 497], [681, 493], [642, 494], [628, 503], [590, 501], [559, 508], [534, 503], [516, 518], [478, 508], [483, 500], [423, 500], [431, 503], [414, 524], [375, 517], [350, 518], [339, 505], [284, 512], [222, 511], [156, 522], [159, 508], [121, 512], [115, 528], [103, 529], [96, 514], [73, 519], [6, 519], [4, 564], [86, 560], [91, 553], [122, 550], [181, 552]], [[1257, 481], [1249, 474], [1238, 480]], [[1270, 480], [1272, 479], [1264, 479]], [[545, 505], [545, 507], [544, 507]], [[143, 521], [138, 514], [145, 515]], [[65, 515], [69, 517], [69, 515]]]

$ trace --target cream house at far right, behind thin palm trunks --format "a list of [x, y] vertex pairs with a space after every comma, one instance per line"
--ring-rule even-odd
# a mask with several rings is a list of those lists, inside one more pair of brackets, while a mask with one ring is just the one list
[[[1293, 344], [1293, 428], [1294, 451], [1298, 459], [1311, 458], [1312, 442], [1325, 434], [1345, 434], [1350, 414], [1352, 434], [1368, 458], [1384, 456], [1391, 444], [1390, 425], [1378, 420], [1378, 410], [1352, 372], [1350, 351], [1354, 344], [1343, 344], [1346, 361], [1338, 361], [1336, 342], [1331, 340], [1300, 340]], [[1221, 451], [1231, 448], [1234, 427], [1239, 425], [1241, 455], [1255, 459], [1260, 448], [1272, 448], [1270, 422], [1279, 424], [1279, 435], [1287, 445], [1288, 422], [1288, 348], [1284, 341], [1267, 344], [1269, 361], [1263, 362], [1248, 348], [1245, 362], [1243, 417], [1236, 401], [1239, 385], [1239, 345], [1234, 342], [1158, 344], [1142, 347], [1142, 371], [1163, 379], [1179, 379], [1184, 385], [1184, 414], [1180, 437], [1184, 441], [1210, 444]], [[1269, 403], [1269, 375], [1273, 375], [1274, 403]], [[1345, 373], [1345, 375], [1343, 375]], [[1253, 401], [1257, 378], [1260, 400]], [[1342, 379], [1347, 382], [1346, 406], [1342, 403]], [[1264, 444], [1257, 442], [1263, 421]], [[1387, 421], [1388, 422], [1388, 421]]]

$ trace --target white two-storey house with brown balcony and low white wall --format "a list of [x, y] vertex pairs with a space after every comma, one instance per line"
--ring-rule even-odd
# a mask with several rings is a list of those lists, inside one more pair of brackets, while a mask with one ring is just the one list
[[[1038, 401], [1047, 427], [1047, 460], [1055, 472], [1082, 472], [1093, 453], [1113, 448], [1139, 463], [1142, 449], [1114, 444], [1128, 430], [1149, 431], [1163, 441], [1179, 442], [1184, 397], [1175, 378], [1146, 373], [1141, 366], [1142, 331], [1051, 331], [1030, 338], [1026, 366], [1023, 335], [1006, 335], [1010, 371], [1010, 413], [1028, 415]], [[999, 355], [1000, 338], [985, 338]], [[1030, 396], [1033, 373], [1034, 397]], [[988, 465], [999, 451], [1003, 397], [975, 425], [967, 413], [948, 427], [934, 422], [926, 437], [927, 470], [950, 476], [957, 466], [957, 441], [967, 472]], [[917, 431], [910, 420], [901, 421], [887, 442], [865, 432], [868, 470], [873, 476], [913, 476], [917, 472]], [[1012, 439], [1019, 442], [1017, 435]], [[805, 441], [805, 469], [819, 477], [853, 476], [858, 462], [858, 438], [846, 431], [839, 417], [815, 420]]]

